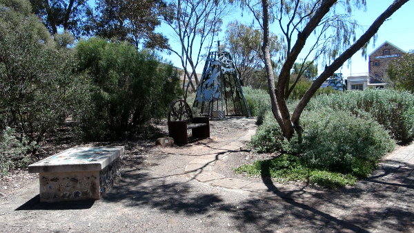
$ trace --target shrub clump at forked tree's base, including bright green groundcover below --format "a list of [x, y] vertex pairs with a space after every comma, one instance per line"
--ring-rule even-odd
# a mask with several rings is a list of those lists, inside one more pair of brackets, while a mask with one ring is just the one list
[[257, 152], [295, 155], [257, 161], [237, 171], [256, 175], [267, 171], [269, 176], [282, 181], [301, 180], [334, 188], [367, 176], [382, 156], [395, 147], [388, 132], [376, 121], [348, 112], [330, 108], [305, 111], [301, 123], [302, 139], [295, 135], [287, 141], [268, 111], [250, 145]]

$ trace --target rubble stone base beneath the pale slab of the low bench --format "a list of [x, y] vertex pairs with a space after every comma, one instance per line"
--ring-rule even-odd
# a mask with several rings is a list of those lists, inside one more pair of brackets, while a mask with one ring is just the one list
[[40, 201], [98, 200], [119, 177], [119, 159], [100, 171], [40, 172]]

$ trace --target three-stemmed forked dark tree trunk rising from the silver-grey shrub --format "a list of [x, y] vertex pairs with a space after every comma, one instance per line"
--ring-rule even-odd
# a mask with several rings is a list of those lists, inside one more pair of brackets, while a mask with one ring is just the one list
[[[324, 16], [331, 10], [333, 5], [337, 2], [337, 0], [324, 0], [322, 1], [319, 8], [316, 10], [313, 17], [308, 21], [304, 30], [299, 32], [297, 35], [297, 41], [295, 45], [293, 45], [292, 50], [288, 52], [288, 56], [286, 57], [286, 61], [282, 67], [282, 70], [279, 74], [279, 79], [277, 81], [277, 88], [275, 88], [275, 78], [272, 69], [272, 63], [270, 58], [270, 50], [268, 45], [269, 39], [269, 15], [268, 15], [268, 8], [269, 3], [268, 0], [262, 0], [262, 10], [263, 10], [263, 30], [264, 30], [264, 38], [263, 38], [263, 46], [262, 52], [264, 54], [264, 63], [266, 68], [266, 75], [268, 78], [268, 89], [270, 94], [270, 101], [272, 105], [272, 112], [275, 116], [277, 123], [279, 124], [280, 128], [282, 129], [283, 135], [286, 139], [290, 140], [294, 134], [294, 132], [298, 132], [300, 134], [302, 132], [302, 128], [299, 125], [299, 117], [301, 116], [304, 108], [311, 100], [311, 97], [315, 94], [317, 89], [330, 77], [335, 70], [341, 67], [344, 62], [351, 58], [355, 52], [362, 48], [377, 32], [378, 28], [384, 23], [384, 21], [390, 17], [396, 10], [398, 10], [404, 3], [409, 0], [395, 0], [391, 6], [389, 6], [381, 15], [378, 17], [374, 23], [371, 25], [370, 28], [360, 37], [350, 48], [348, 48], [345, 52], [343, 52], [331, 65], [327, 66], [313, 82], [311, 87], [306, 91], [304, 97], [299, 101], [295, 111], [290, 118], [290, 114], [286, 105], [286, 85], [288, 85], [290, 79], [290, 69], [293, 67], [293, 64], [297, 60], [299, 53], [303, 50], [306, 40], [311, 35], [311, 33], [317, 28], [320, 21], [324, 18]], [[300, 135], [299, 135], [300, 136]]]

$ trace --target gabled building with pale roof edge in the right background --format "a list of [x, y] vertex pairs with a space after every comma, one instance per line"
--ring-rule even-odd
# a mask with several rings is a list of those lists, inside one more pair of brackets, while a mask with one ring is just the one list
[[376, 81], [382, 81], [387, 75], [386, 70], [388, 70], [388, 63], [395, 60], [397, 57], [402, 57], [405, 53], [404, 50], [385, 41], [369, 54], [369, 76], [373, 77]]

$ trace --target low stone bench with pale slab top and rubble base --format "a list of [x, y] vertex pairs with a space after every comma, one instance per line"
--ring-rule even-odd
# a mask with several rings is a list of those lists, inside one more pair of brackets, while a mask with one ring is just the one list
[[39, 173], [40, 201], [100, 199], [120, 176], [123, 146], [71, 148], [29, 165]]

